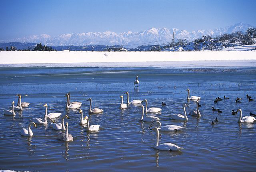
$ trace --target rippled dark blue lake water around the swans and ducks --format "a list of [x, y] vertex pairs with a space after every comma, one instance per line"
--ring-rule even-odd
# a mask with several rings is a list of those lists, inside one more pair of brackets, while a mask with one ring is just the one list
[[[134, 89], [133, 81], [140, 84]], [[241, 108], [243, 116], [256, 114], [256, 68], [0, 68], [0, 169], [29, 171], [256, 171], [256, 124], [238, 123]], [[188, 121], [170, 120], [170, 114], [183, 114], [196, 109], [196, 102], [186, 100], [201, 96], [201, 118], [188, 115]], [[118, 108], [120, 95], [127, 100], [147, 99], [149, 107], [162, 108], [153, 114], [162, 125], [183, 126], [183, 131], [160, 132], [159, 143], [171, 142], [183, 150], [159, 151], [154, 146], [156, 133], [149, 130], [150, 122], [140, 122], [141, 108], [129, 105]], [[88, 115], [90, 124], [99, 124], [98, 132], [86, 132], [87, 126], [78, 124], [77, 110], [65, 110], [66, 97], [82, 102], [84, 115], [92, 107], [104, 109], [102, 114]], [[16, 116], [4, 116], [3, 110], [17, 103], [16, 94], [30, 106]], [[216, 97], [229, 97], [214, 104]], [[236, 104], [235, 98], [242, 98]], [[161, 106], [165, 102], [165, 107]], [[72, 142], [58, 140], [61, 131], [50, 124], [33, 128], [33, 137], [20, 136], [20, 128], [30, 119], [42, 118], [48, 104], [48, 113], [60, 112], [70, 119]], [[223, 113], [212, 112], [211, 107]], [[212, 125], [212, 120], [219, 122]], [[60, 118], [55, 118], [60, 122]]]

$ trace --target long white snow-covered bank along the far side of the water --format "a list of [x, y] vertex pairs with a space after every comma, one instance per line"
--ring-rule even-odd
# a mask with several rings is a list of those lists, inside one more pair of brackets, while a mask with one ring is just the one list
[[27, 66], [62, 64], [60, 66], [63, 67], [70, 66], [70, 64], [73, 64], [71, 66], [81, 66], [82, 64], [84, 66], [90, 66], [90, 64], [91, 66], [106, 66], [103, 63], [107, 63], [108, 66], [140, 66], [140, 64], [151, 66], [151, 64], [156, 64], [156, 66], [182, 67], [182, 64], [216, 66], [216, 61], [220, 61], [217, 62], [217, 66], [230, 65], [229, 61], [222, 60], [236, 60], [238, 64], [242, 64], [241, 60], [250, 60], [246, 62], [245, 66], [255, 66], [256, 52], [0, 52], [1, 66], [24, 66], [24, 64]]

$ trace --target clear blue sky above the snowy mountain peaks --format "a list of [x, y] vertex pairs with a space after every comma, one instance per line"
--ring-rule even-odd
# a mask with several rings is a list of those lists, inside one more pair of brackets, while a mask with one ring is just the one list
[[256, 0], [2, 0], [0, 40], [29, 35], [256, 26]]

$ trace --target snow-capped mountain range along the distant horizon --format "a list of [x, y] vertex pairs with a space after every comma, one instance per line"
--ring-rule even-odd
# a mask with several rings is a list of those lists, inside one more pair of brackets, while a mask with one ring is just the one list
[[245, 32], [247, 28], [253, 27], [250, 24], [237, 23], [224, 28], [216, 28], [214, 30], [197, 30], [188, 32], [177, 28], [150, 28], [140, 32], [88, 32], [88, 33], [72, 33], [62, 34], [58, 36], [50, 36], [47, 34], [33, 35], [13, 40], [5, 40], [1, 42], [41, 42], [48, 46], [61, 45], [124, 45], [126, 47], [137, 47], [140, 44], [162, 44], [172, 41], [173, 33], [175, 38], [183, 38], [186, 40], [194, 40], [203, 35], [220, 35], [232, 33], [236, 31]]

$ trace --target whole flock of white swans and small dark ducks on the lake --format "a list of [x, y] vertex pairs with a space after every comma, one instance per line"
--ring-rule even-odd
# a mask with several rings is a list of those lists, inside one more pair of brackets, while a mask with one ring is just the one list
[[[134, 86], [135, 84], [137, 84], [138, 86], [138, 76], [136, 77], [136, 80], [134, 81]], [[201, 105], [199, 105], [198, 100], [200, 99], [200, 97], [198, 96], [190, 96], [190, 90], [187, 89], [186, 91], [188, 91], [188, 96], [187, 96], [187, 100], [195, 100], [196, 101], [196, 110], [193, 110], [191, 112], [189, 112], [189, 114], [191, 116], [197, 116], [200, 117], [201, 114], [199, 112], [199, 107], [201, 107]], [[145, 115], [144, 116], [144, 112], [148, 112], [148, 113], [156, 113], [156, 112], [160, 112], [162, 109], [161, 108], [148, 108], [148, 100], [132, 100], [131, 102], [129, 101], [129, 92], [125, 93], [127, 95], [127, 103], [124, 103], [124, 96], [120, 96], [121, 98], [121, 103], [119, 108], [125, 109], [127, 108], [127, 104], [142, 104], [142, 102], [145, 102], [146, 104], [146, 108], [144, 108], [143, 105], [140, 105], [139, 107], [142, 108], [142, 114], [140, 116], [140, 121], [144, 121], [144, 122], [152, 122], [149, 126], [149, 128], [151, 130], [154, 130], [156, 132], [156, 143], [155, 146], [153, 146], [154, 148], [158, 149], [158, 150], [168, 150], [168, 151], [175, 151], [175, 150], [180, 150], [183, 149], [175, 144], [172, 143], [163, 143], [163, 144], [159, 144], [159, 131], [178, 131], [178, 130], [182, 130], [183, 127], [181, 126], [176, 126], [176, 125], [166, 125], [166, 126], [161, 126], [161, 122], [159, 121], [160, 118], [156, 117], [156, 116], [152, 116], [152, 115]], [[12, 106], [10, 107], [10, 110], [4, 110], [4, 115], [15, 115], [15, 111], [22, 111], [23, 108], [28, 107], [29, 103], [26, 102], [21, 102], [21, 95], [17, 94], [16, 96], [18, 96], [18, 104], [17, 106], [14, 106], [14, 101], [12, 102]], [[78, 109], [80, 108], [80, 106], [82, 105], [81, 102], [71, 102], [70, 100], [70, 93], [65, 95], [67, 97], [67, 101], [66, 101], [66, 109]], [[251, 99], [250, 96], [248, 96], [248, 94], [246, 95], [248, 101], [252, 101], [253, 99]], [[224, 96], [224, 99], [229, 99], [226, 96]], [[241, 103], [242, 100], [241, 98], [236, 98], [236, 103]], [[89, 114], [100, 114], [102, 113], [104, 110], [100, 109], [100, 108], [94, 108], [92, 109], [92, 99], [89, 98], [87, 101], [90, 101], [90, 108], [88, 110]], [[214, 103], [218, 102], [218, 101], [222, 101], [222, 98], [216, 98], [214, 100]], [[162, 102], [162, 106], [165, 106], [166, 104], [164, 102]], [[48, 124], [47, 119], [49, 119], [52, 123], [51, 123], [51, 127], [54, 130], [62, 130], [65, 131], [65, 134], [63, 134], [61, 140], [63, 141], [73, 141], [73, 137], [70, 133], [68, 133], [68, 122], [66, 122], [66, 124], [64, 123], [64, 119], [70, 119], [67, 115], [62, 116], [62, 122], [61, 123], [56, 123], [54, 121], [54, 118], [58, 117], [61, 115], [61, 113], [49, 113], [47, 112], [47, 108], [48, 105], [44, 104], [44, 107], [46, 107], [45, 109], [45, 114], [44, 114], [44, 118], [34, 118], [31, 119], [32, 122], [30, 122], [28, 124], [28, 128], [22, 128], [20, 131], [20, 135], [22, 136], [33, 136], [33, 132], [31, 130], [31, 126], [34, 126], [35, 128], [37, 128], [36, 124]], [[170, 115], [172, 120], [188, 120], [188, 117], [186, 115], [186, 107], [188, 107], [188, 105], [183, 104], [183, 111], [184, 111], [184, 115], [182, 114], [172, 114]], [[220, 111], [220, 109], [215, 109], [214, 107], [212, 107], [212, 111], [217, 111], [218, 113], [222, 113], [222, 111]], [[238, 119], [238, 122], [245, 122], [245, 123], [251, 123], [254, 122], [256, 119], [254, 118], [254, 116], [256, 116], [255, 114], [252, 114], [252, 112], [250, 113], [250, 116], [244, 116], [242, 117], [242, 110], [238, 109], [237, 111], [232, 111], [232, 115], [237, 114], [237, 112], [240, 112], [240, 116]], [[81, 118], [79, 121], [79, 124], [87, 124], [87, 131], [98, 131], [100, 128], [100, 125], [89, 125], [89, 120], [88, 120], [88, 116], [83, 117], [83, 111], [82, 109], [79, 110], [79, 113], [81, 114]], [[217, 117], [215, 118], [215, 120], [212, 121], [212, 124], [215, 124], [215, 122], [218, 122]]]

